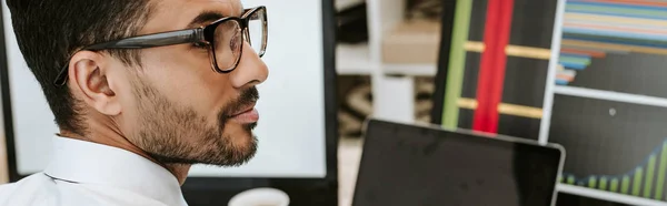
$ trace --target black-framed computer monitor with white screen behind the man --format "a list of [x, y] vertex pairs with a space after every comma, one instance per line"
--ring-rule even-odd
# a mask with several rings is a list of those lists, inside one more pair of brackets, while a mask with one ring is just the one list
[[[269, 21], [262, 60], [270, 74], [258, 86], [258, 153], [240, 167], [193, 166], [183, 185], [186, 199], [219, 206], [246, 189], [273, 187], [286, 192], [291, 205], [337, 205], [334, 0], [241, 2], [266, 6]], [[9, 174], [16, 182], [43, 169], [59, 131], [10, 18], [3, 1], [0, 75]]]

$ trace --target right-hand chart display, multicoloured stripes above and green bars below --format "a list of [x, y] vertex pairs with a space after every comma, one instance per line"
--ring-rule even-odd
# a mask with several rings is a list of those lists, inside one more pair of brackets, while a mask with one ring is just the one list
[[554, 96], [548, 141], [568, 156], [560, 183], [667, 202], [667, 1], [565, 9], [556, 89], [585, 92]]

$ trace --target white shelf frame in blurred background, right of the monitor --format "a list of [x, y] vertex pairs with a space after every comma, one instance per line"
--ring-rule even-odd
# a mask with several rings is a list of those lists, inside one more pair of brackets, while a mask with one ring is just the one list
[[339, 75], [370, 76], [374, 117], [415, 122], [414, 78], [434, 76], [436, 64], [385, 62], [384, 42], [394, 29], [405, 22], [406, 1], [338, 0], [337, 8], [345, 9], [361, 2], [367, 6], [369, 39], [362, 44], [337, 45], [337, 72]]

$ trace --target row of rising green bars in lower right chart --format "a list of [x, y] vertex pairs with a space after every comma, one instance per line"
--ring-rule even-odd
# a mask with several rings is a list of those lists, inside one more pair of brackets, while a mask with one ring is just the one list
[[585, 178], [564, 174], [560, 182], [626, 195], [667, 200], [667, 194], [665, 194], [666, 176], [667, 141], [658, 146], [644, 164], [627, 174], [614, 176], [593, 175]]

